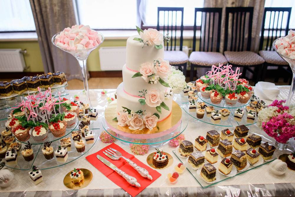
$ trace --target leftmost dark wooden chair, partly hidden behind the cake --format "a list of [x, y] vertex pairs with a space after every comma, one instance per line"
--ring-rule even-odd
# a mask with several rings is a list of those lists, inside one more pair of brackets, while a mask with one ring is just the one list
[[[160, 26], [160, 12], [164, 12], [163, 26]], [[179, 12], [181, 12], [181, 25], [178, 25]], [[175, 14], [175, 17], [173, 17]], [[165, 20], [166, 19], [166, 20]], [[167, 21], [167, 22], [166, 22]], [[174, 24], [175, 22], [175, 24]], [[163, 30], [163, 35], [169, 33], [170, 42], [165, 43], [164, 59], [168, 60], [170, 65], [178, 66], [182, 69], [184, 76], [186, 76], [187, 62], [189, 61], [188, 55], [182, 51], [183, 45], [183, 7], [158, 7], [158, 23], [157, 30]], [[179, 51], [176, 51], [176, 31], [180, 30]]]

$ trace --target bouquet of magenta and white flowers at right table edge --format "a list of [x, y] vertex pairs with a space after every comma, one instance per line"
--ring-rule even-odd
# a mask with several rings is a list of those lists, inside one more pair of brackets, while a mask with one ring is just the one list
[[284, 106], [286, 100], [274, 100], [259, 112], [258, 126], [277, 142], [287, 143], [295, 137], [295, 107]]

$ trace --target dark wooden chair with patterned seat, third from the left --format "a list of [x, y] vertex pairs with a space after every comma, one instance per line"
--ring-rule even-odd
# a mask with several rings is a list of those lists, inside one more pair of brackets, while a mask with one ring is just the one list
[[[242, 78], [245, 78], [247, 70], [253, 73], [256, 84], [260, 78], [264, 59], [250, 51], [253, 7], [226, 7], [225, 12], [224, 56], [232, 66], [243, 67]], [[250, 67], [254, 67], [254, 71]]]

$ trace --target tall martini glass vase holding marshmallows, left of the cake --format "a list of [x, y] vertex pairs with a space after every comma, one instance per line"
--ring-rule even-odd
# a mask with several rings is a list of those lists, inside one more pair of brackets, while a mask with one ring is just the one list
[[[60, 34], [60, 32], [56, 33], [52, 37], [51, 42], [53, 43], [53, 45], [55, 45], [55, 42], [54, 42], [55, 37], [57, 35], [59, 35], [59, 34]], [[101, 43], [103, 43], [104, 42], [104, 36], [100, 32], [98, 32], [98, 34], [101, 35]], [[84, 92], [85, 92], [85, 96], [86, 96], [86, 102], [89, 103], [90, 106], [92, 106], [92, 105], [91, 105], [90, 97], [89, 97], [88, 80], [87, 80], [87, 72], [86, 72], [86, 69], [87, 69], [86, 62], [87, 62], [87, 58], [88, 58], [89, 54], [94, 49], [96, 49], [99, 45], [101, 45], [101, 43], [99, 43], [98, 45], [96, 45], [93, 48], [80, 49], [80, 50], [68, 50], [68, 49], [61, 48], [61, 47], [55, 45], [57, 48], [60, 48], [61, 50], [72, 54], [77, 59], [77, 61], [79, 63], [79, 66], [80, 66], [80, 69], [81, 69], [81, 72], [82, 72], [82, 78], [83, 78], [83, 83], [84, 83]]]

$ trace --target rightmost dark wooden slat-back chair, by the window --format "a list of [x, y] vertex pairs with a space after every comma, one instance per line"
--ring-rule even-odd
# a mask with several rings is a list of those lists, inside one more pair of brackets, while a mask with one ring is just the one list
[[[292, 76], [292, 71], [289, 70], [289, 64], [281, 58], [276, 51], [273, 49], [273, 41], [276, 40], [279, 37], [286, 36], [289, 31], [289, 21], [291, 16], [291, 7], [266, 7], [264, 8], [263, 13], [263, 22], [261, 27], [261, 36], [260, 36], [260, 44], [259, 44], [259, 55], [263, 57], [265, 60], [263, 64], [263, 72], [261, 76], [261, 81], [265, 80], [266, 71], [268, 66], [278, 66], [278, 73], [280, 73], [281, 70], [285, 70], [289, 73], [290, 77]], [[266, 14], [270, 14], [269, 19], [269, 25], [268, 28], [266, 27]], [[273, 15], [274, 14], [274, 15]], [[278, 15], [277, 15], [278, 14]], [[284, 15], [286, 18], [284, 18]], [[273, 20], [272, 20], [273, 16]], [[276, 20], [277, 16], [277, 21]], [[280, 18], [281, 17], [281, 18]], [[287, 19], [286, 22], [286, 28], [282, 28], [283, 19]], [[276, 28], [275, 28], [276, 24]], [[271, 28], [272, 26], [272, 28]], [[285, 31], [284, 35], [282, 35], [282, 30]], [[268, 31], [267, 39], [266, 39], [266, 46], [263, 47], [263, 42], [265, 40], [264, 38], [264, 32]], [[270, 33], [271, 32], [271, 33]], [[278, 35], [279, 32], [279, 35]], [[271, 34], [271, 35], [270, 35]], [[284, 67], [288, 67], [288, 69], [285, 69]], [[275, 82], [278, 82], [278, 76], [275, 78]], [[288, 77], [284, 77], [284, 81], [287, 82]], [[291, 85], [290, 80], [290, 85]]]

